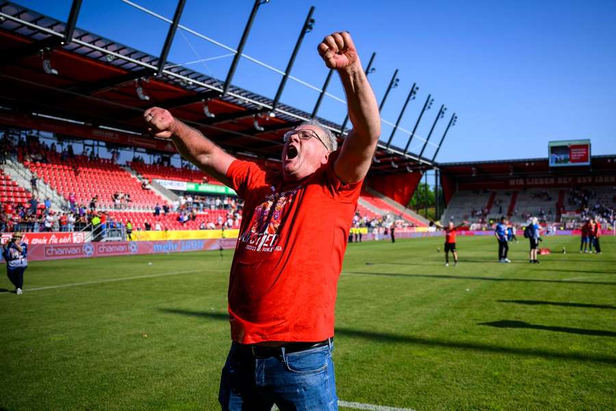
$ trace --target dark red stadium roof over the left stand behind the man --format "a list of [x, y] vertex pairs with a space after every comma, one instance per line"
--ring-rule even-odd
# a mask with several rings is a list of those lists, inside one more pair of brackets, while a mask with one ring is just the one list
[[[32, 114], [42, 114], [146, 137], [142, 112], [158, 105], [231, 152], [275, 159], [282, 134], [311, 118], [232, 85], [223, 95], [224, 82], [166, 62], [165, 53], [149, 55], [78, 29], [77, 3], [63, 23], [0, 1], [0, 106], [5, 114], [30, 120]], [[318, 120], [341, 134], [342, 126]], [[140, 140], [133, 141], [139, 145]], [[416, 155], [394, 146], [386, 149], [380, 142], [371, 173], [431, 166], [428, 159], [420, 162]]]

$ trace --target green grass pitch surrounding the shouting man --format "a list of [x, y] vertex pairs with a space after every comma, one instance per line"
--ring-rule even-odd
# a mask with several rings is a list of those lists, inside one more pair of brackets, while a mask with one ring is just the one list
[[[602, 238], [601, 255], [580, 254], [577, 237], [546, 238], [558, 252], [541, 264], [528, 264], [524, 240], [498, 264], [496, 240], [459, 236], [455, 267], [444, 266], [442, 242], [349, 244], [340, 399], [419, 411], [616, 409], [615, 237]], [[0, 410], [219, 409], [231, 256], [32, 262], [23, 295], [0, 293]], [[0, 288], [12, 289], [5, 275]]]

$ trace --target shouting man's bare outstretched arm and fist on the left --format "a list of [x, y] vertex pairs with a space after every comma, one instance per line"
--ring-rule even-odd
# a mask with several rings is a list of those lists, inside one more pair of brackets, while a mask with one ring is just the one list
[[153, 136], [172, 140], [177, 151], [185, 159], [222, 184], [229, 186], [227, 170], [235, 160], [233, 155], [223, 151], [197, 129], [175, 119], [167, 110], [158, 107], [149, 108], [144, 112], [143, 118]]

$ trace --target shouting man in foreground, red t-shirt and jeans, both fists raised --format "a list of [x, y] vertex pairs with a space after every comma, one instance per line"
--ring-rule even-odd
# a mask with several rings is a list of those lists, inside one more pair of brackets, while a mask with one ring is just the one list
[[346, 239], [381, 134], [374, 92], [346, 32], [318, 46], [342, 81], [353, 129], [337, 140], [317, 121], [285, 133], [279, 171], [240, 161], [169, 112], [144, 112], [149, 131], [244, 199], [229, 279], [233, 343], [223, 410], [337, 410], [334, 305]]

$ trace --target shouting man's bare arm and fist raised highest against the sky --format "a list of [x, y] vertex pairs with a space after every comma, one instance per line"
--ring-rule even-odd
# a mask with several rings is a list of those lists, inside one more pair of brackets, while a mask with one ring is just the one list
[[365, 77], [355, 45], [347, 32], [323, 39], [318, 51], [326, 66], [335, 69], [344, 86], [348, 116], [353, 125], [346, 136], [334, 171], [344, 183], [354, 183], [368, 174], [372, 155], [381, 135], [381, 117], [376, 97]]

